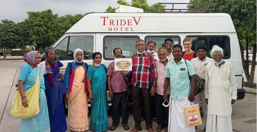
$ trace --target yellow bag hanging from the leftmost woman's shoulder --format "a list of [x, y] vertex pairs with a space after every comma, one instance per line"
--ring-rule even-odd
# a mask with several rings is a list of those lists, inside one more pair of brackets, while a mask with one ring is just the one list
[[24, 107], [22, 105], [20, 92], [17, 90], [10, 114], [12, 116], [14, 116], [15, 118], [22, 118], [22, 119], [31, 118], [31, 117], [37, 115], [40, 112], [40, 110], [39, 110], [39, 90], [40, 90], [40, 82], [39, 82], [39, 75], [37, 73], [37, 79], [36, 79], [35, 84], [28, 91], [24, 92], [24, 94], [28, 100], [29, 106]]

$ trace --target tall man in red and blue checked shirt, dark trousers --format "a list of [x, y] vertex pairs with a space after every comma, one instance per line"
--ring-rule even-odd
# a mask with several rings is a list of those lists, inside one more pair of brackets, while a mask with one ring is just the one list
[[[145, 52], [145, 42], [142, 39], [137, 40], [136, 48], [138, 52], [135, 55], [132, 55], [133, 68], [129, 72], [121, 72], [122, 75], [125, 75], [128, 78], [129, 75], [132, 75], [132, 101], [133, 101], [133, 110], [134, 110], [134, 121], [135, 128], [130, 132], [137, 132], [142, 130], [141, 127], [141, 100], [144, 102], [144, 111], [145, 111], [145, 124], [146, 129], [149, 132], [155, 132], [153, 127], [153, 118], [152, 118], [152, 97], [155, 94], [156, 87], [156, 66], [154, 62], [153, 55]], [[135, 59], [133, 59], [135, 56]]]

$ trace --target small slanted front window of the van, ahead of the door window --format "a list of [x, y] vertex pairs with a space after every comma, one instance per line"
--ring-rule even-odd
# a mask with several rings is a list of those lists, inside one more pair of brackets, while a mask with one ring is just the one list
[[66, 51], [68, 45], [68, 36], [64, 38], [56, 47], [57, 60], [66, 60]]

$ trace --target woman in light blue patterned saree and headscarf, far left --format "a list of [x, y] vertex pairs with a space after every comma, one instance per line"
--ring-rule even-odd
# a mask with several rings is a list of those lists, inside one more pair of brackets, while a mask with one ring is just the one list
[[37, 66], [41, 61], [41, 54], [38, 51], [30, 51], [23, 56], [23, 60], [27, 62], [27, 64], [21, 67], [18, 81], [18, 90], [22, 98], [22, 104], [26, 107], [29, 106], [24, 92], [35, 84], [38, 73], [40, 80], [40, 87], [38, 87], [40, 88], [40, 112], [31, 118], [22, 119], [20, 121], [20, 132], [50, 132], [44, 77]]

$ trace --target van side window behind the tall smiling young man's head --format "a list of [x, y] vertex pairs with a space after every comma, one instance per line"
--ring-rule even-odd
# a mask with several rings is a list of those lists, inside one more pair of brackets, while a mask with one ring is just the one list
[[173, 40], [173, 45], [180, 44], [179, 36], [146, 36], [145, 44], [147, 45], [149, 41], [154, 41], [156, 43], [155, 52], [157, 53], [159, 48], [164, 47], [164, 41], [166, 38], [171, 38]]

